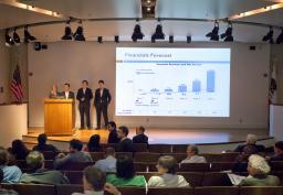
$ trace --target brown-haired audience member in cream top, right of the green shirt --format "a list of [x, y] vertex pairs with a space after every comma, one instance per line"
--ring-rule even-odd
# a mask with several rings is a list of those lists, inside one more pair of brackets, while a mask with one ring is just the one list
[[151, 176], [149, 187], [187, 187], [189, 183], [181, 175], [177, 175], [178, 164], [175, 158], [164, 155], [158, 159], [157, 170], [160, 176]]

